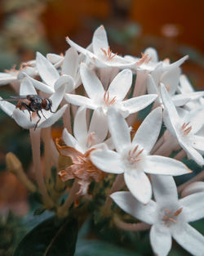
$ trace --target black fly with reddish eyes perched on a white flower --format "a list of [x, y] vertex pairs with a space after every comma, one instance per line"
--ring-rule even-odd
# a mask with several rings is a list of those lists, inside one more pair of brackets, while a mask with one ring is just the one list
[[51, 113], [55, 113], [51, 110], [51, 99], [40, 97], [38, 95], [11, 96], [8, 99], [3, 99], [3, 101], [18, 101], [16, 108], [23, 111], [28, 110], [30, 115], [30, 121], [32, 121], [32, 113], [36, 113], [39, 119], [38, 122], [35, 124], [34, 130], [38, 127], [38, 123], [41, 120], [41, 115], [39, 114], [39, 111], [42, 113], [45, 119], [46, 116], [43, 114], [42, 110], [50, 110]]

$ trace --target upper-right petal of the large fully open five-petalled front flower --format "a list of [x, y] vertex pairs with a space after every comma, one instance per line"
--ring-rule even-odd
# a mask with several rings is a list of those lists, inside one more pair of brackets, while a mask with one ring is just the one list
[[[140, 144], [149, 153], [159, 135], [162, 126], [162, 108], [157, 107], [144, 119], [133, 138], [133, 143]], [[147, 139], [147, 134], [149, 137]]]

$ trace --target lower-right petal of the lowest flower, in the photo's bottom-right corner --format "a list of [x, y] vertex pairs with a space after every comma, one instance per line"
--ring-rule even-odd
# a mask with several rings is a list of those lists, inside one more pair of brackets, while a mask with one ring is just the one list
[[180, 230], [176, 229], [172, 236], [190, 254], [203, 256], [204, 236], [188, 223], [185, 223]]

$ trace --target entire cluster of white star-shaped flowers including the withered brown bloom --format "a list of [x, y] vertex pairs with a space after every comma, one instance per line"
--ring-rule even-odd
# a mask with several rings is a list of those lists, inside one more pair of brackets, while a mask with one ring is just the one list
[[[0, 84], [11, 83], [20, 95], [16, 106], [9, 102], [14, 98], [1, 98], [0, 108], [30, 131], [36, 178], [47, 209], [56, 203], [42, 175], [40, 137], [42, 128], [63, 117], [62, 137], [55, 144], [42, 136], [52, 164], [59, 154], [69, 157], [69, 164], [58, 171], [61, 180], [74, 179], [68, 199], [58, 205], [59, 214], [66, 215], [73, 201], [86, 196], [92, 181], [117, 174], [106, 208], [113, 199], [149, 224], [153, 252], [159, 256], [170, 251], [171, 236], [189, 253], [203, 256], [204, 237], [188, 224], [204, 217], [203, 183], [181, 185], [179, 200], [173, 178], [192, 172], [181, 161], [185, 156], [204, 164], [204, 92], [194, 92], [181, 74], [180, 65], [188, 56], [174, 63], [159, 61], [153, 48], [141, 57], [119, 56], [110, 50], [104, 26], [95, 30], [86, 48], [66, 40], [70, 47], [65, 55], [45, 57], [38, 52], [20, 70], [0, 73]], [[149, 115], [135, 131], [138, 112], [147, 106]], [[198, 175], [195, 180], [202, 180], [204, 175]]]

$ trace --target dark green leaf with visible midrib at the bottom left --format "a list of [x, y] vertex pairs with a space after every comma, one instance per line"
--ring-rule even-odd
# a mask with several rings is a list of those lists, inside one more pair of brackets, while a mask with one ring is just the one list
[[73, 256], [77, 235], [76, 219], [52, 217], [24, 236], [13, 256]]

